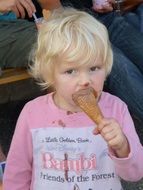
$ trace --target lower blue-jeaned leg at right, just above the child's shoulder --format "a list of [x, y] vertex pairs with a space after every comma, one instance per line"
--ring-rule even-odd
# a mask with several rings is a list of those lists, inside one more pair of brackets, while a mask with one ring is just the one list
[[118, 48], [113, 47], [113, 54], [114, 64], [106, 80], [105, 91], [126, 102], [130, 113], [143, 123], [143, 75]]

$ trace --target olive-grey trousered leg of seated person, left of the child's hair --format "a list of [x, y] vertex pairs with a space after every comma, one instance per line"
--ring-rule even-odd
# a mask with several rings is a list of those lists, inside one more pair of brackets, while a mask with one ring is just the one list
[[36, 36], [33, 22], [22, 19], [0, 21], [0, 67], [27, 66]]

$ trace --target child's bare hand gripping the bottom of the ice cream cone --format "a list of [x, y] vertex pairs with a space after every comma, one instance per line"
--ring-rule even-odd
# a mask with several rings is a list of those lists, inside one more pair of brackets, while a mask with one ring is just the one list
[[128, 140], [115, 119], [103, 118], [93, 133], [100, 133], [117, 157], [123, 158], [129, 155]]

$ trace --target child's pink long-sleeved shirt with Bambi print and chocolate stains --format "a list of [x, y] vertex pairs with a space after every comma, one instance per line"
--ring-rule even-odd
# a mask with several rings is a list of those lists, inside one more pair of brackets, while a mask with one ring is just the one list
[[4, 190], [121, 190], [120, 177], [143, 177], [143, 147], [127, 106], [103, 92], [99, 106], [115, 118], [128, 138], [130, 154], [117, 158], [83, 112], [57, 108], [52, 93], [27, 103], [7, 157]]

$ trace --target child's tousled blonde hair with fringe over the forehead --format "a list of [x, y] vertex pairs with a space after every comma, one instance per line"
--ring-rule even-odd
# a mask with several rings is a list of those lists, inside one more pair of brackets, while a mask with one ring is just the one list
[[34, 54], [31, 73], [44, 88], [53, 85], [54, 67], [60, 61], [88, 64], [102, 56], [107, 75], [113, 62], [105, 26], [88, 13], [73, 8], [51, 12], [39, 30]]

